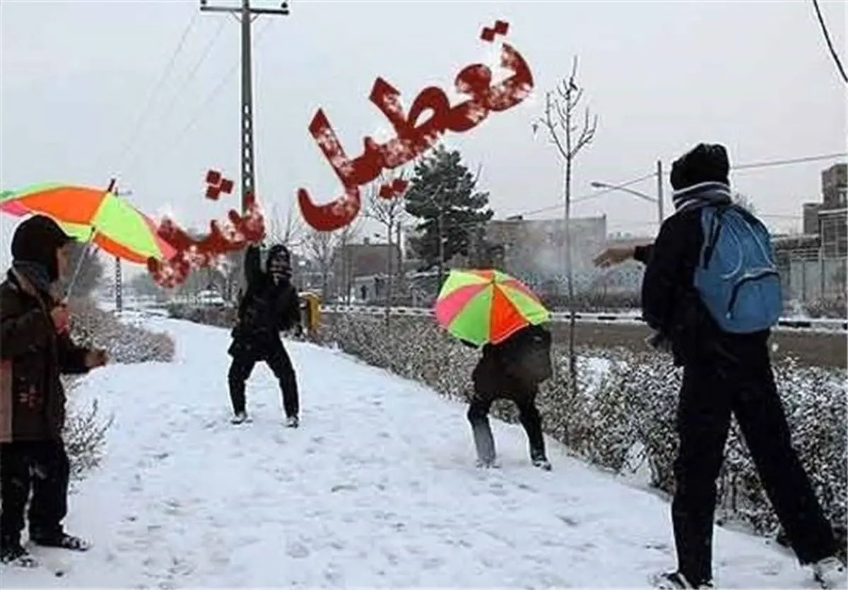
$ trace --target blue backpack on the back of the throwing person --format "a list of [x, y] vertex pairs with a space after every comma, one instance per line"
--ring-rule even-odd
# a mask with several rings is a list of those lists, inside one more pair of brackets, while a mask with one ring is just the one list
[[695, 288], [719, 328], [750, 334], [777, 324], [783, 297], [767, 227], [738, 205], [706, 204], [700, 224]]

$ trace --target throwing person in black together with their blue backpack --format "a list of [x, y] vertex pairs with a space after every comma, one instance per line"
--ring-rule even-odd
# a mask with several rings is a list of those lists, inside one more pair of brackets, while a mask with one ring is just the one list
[[678, 401], [680, 446], [672, 500], [677, 571], [657, 587], [712, 587], [716, 481], [731, 416], [745, 437], [762, 487], [801, 565], [816, 581], [842, 587], [833, 529], [795, 449], [774, 383], [770, 329], [782, 308], [771, 237], [762, 221], [734, 203], [728, 153], [701, 143], [672, 164], [675, 213], [656, 242], [610, 248], [601, 266], [644, 263], [642, 312], [650, 343], [683, 366]]

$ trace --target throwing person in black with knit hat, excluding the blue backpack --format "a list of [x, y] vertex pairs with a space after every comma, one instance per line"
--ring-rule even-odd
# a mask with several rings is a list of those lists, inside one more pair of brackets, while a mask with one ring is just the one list
[[660, 587], [711, 587], [716, 480], [735, 415], [754, 459], [762, 487], [801, 565], [812, 565], [817, 581], [832, 587], [845, 577], [835, 557], [830, 523], [792, 448], [791, 433], [774, 383], [769, 331], [722, 331], [695, 290], [704, 230], [698, 202], [729, 205], [726, 149], [700, 144], [672, 165], [676, 212], [656, 242], [611, 248], [595, 259], [601, 266], [626, 259], [646, 265], [642, 313], [656, 333], [650, 343], [672, 353], [683, 366], [678, 402], [680, 439], [674, 464], [672, 524], [678, 570], [660, 576]]

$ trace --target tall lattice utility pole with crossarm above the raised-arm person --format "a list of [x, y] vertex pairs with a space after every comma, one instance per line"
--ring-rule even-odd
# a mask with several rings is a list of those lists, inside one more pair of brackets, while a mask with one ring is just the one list
[[232, 14], [242, 24], [242, 213], [248, 209], [248, 200], [256, 190], [256, 168], [254, 166], [254, 90], [251, 55], [250, 25], [259, 14], [287, 16], [288, 3], [280, 8], [251, 8], [250, 0], [242, 0], [241, 7], [209, 6], [208, 0], [200, 0], [203, 12]]

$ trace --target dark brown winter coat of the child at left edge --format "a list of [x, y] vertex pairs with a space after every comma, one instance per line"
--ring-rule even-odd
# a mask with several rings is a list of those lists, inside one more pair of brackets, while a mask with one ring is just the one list
[[88, 372], [88, 350], [53, 327], [47, 302], [24, 276], [0, 284], [0, 443], [60, 440], [60, 374]]

